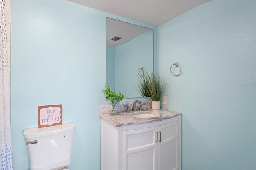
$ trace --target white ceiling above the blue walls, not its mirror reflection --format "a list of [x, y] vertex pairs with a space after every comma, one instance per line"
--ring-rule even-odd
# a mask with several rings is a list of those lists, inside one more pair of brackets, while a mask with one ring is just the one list
[[195, 8], [207, 0], [69, 0], [139, 22], [161, 24]]

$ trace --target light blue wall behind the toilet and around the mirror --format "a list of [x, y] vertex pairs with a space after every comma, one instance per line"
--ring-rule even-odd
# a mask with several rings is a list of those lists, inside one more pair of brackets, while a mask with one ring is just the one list
[[38, 106], [54, 104], [63, 105], [63, 123], [76, 123], [69, 168], [100, 169], [99, 106], [109, 103], [102, 93], [106, 17], [156, 27], [63, 0], [13, 0], [11, 11], [14, 169], [29, 169], [22, 132], [37, 127]]

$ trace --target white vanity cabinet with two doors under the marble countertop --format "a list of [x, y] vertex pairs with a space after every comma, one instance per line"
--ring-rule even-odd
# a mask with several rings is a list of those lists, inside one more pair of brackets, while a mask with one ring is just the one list
[[181, 115], [120, 127], [102, 119], [101, 169], [181, 169]]

